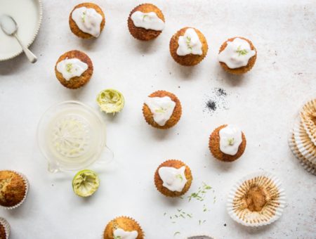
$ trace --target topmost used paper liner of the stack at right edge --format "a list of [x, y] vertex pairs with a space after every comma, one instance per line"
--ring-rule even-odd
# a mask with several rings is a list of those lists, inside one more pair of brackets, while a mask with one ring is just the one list
[[308, 101], [300, 112], [303, 127], [316, 146], [316, 98]]

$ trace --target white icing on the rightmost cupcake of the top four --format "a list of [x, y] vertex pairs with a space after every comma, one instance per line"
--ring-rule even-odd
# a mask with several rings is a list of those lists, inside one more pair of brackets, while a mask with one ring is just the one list
[[248, 41], [235, 38], [234, 41], [228, 41], [227, 46], [218, 55], [218, 60], [225, 63], [230, 69], [235, 69], [248, 65], [251, 57], [256, 55], [256, 51], [251, 50]]

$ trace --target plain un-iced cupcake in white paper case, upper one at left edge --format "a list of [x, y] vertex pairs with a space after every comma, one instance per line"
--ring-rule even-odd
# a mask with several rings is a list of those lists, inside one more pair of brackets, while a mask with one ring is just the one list
[[22, 205], [28, 188], [29, 183], [24, 175], [11, 170], [0, 171], [0, 206], [13, 209]]

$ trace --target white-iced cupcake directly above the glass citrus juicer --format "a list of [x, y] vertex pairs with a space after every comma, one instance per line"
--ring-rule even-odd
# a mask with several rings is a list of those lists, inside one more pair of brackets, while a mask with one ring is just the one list
[[57, 79], [69, 89], [84, 86], [90, 80], [92, 73], [92, 61], [82, 51], [74, 50], [64, 53], [55, 65]]

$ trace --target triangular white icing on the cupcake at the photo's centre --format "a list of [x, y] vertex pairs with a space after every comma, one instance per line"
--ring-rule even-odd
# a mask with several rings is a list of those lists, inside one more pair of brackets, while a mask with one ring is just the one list
[[164, 126], [170, 119], [176, 103], [169, 96], [164, 97], [147, 97], [145, 104], [150, 108], [154, 117], [154, 122]]

